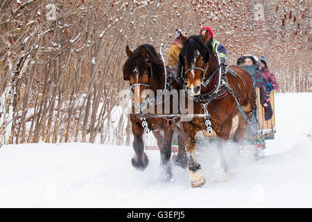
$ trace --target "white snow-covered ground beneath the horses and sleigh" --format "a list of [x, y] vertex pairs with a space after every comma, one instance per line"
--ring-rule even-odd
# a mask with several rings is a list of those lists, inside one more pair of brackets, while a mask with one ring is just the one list
[[141, 172], [130, 164], [130, 147], [3, 146], [0, 207], [312, 207], [311, 98], [277, 94], [276, 139], [267, 142], [266, 157], [254, 161], [248, 151], [232, 152], [227, 183], [214, 183], [216, 148], [200, 146], [207, 183], [198, 189], [177, 167], [173, 182], [162, 184], [158, 151], [147, 152], [150, 165]]

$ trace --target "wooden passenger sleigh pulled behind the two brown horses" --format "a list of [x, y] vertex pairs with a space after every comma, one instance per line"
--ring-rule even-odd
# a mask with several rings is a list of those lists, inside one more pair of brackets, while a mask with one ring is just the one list
[[[248, 66], [248, 67], [243, 67], [245, 68], [250, 75], [252, 76], [254, 80], [254, 73], [255, 73], [255, 67], [254, 65]], [[259, 88], [255, 87], [255, 93], [257, 95], [256, 99], [256, 105], [257, 105], [257, 110], [256, 110], [256, 117], [258, 120], [257, 126], [248, 126], [245, 137], [244, 137], [244, 142], [245, 147], [248, 148], [255, 148], [256, 153], [259, 153], [259, 151], [263, 150], [266, 148], [266, 140], [268, 139], [274, 139], [275, 138], [275, 133], [276, 133], [276, 128], [275, 128], [275, 96], [274, 92], [272, 91], [270, 93], [270, 102], [272, 106], [272, 118], [269, 121], [265, 120], [265, 108], [260, 103], [260, 90]], [[253, 119], [256, 117], [252, 117]], [[232, 130], [230, 134], [230, 141], [233, 141], [233, 135], [234, 132], [238, 126], [239, 123], [239, 117], [236, 115], [233, 119], [232, 123]], [[258, 133], [257, 135], [251, 135], [250, 134], [250, 127], [256, 127], [255, 129]], [[207, 133], [206, 131], [202, 130], [201, 132], [198, 133], [196, 143], [200, 142], [207, 142], [209, 140], [209, 143], [216, 143], [218, 142], [218, 137], [216, 136], [216, 133], [212, 131], [211, 133]], [[177, 151], [177, 135], [176, 133], [173, 135], [173, 141], [172, 141], [172, 146], [171, 149], [173, 152]], [[157, 146], [146, 146], [146, 150], [158, 150]]]

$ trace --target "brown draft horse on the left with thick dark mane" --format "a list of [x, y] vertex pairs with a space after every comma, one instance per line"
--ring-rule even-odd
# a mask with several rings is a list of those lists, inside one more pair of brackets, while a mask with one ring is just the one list
[[[123, 79], [130, 81], [130, 89], [133, 89], [134, 100], [142, 103], [146, 99], [144, 89], [150, 89], [156, 95], [157, 89], [164, 89], [164, 64], [162, 58], [157, 54], [155, 48], [150, 44], [143, 44], [135, 51], [130, 51], [129, 46], [126, 47], [128, 60], [123, 66]], [[177, 83], [173, 83], [173, 88], [178, 89]], [[172, 99], [172, 98], [171, 98]], [[173, 104], [171, 102], [171, 104]], [[164, 102], [155, 104], [155, 113], [157, 106], [161, 105], [164, 113]], [[172, 106], [172, 105], [171, 105]], [[172, 110], [172, 108], [171, 108]], [[172, 113], [172, 112], [171, 112]], [[144, 152], [144, 141], [142, 135], [144, 128], [141, 126], [141, 119], [135, 118], [135, 106], [132, 105], [132, 114], [130, 114], [132, 122], [132, 133], [134, 137], [133, 148], [135, 155], [132, 157], [132, 166], [139, 170], [144, 170], [148, 166], [148, 157]], [[165, 126], [166, 118], [148, 118], [150, 130], [157, 139], [162, 165], [163, 180], [170, 180], [171, 173], [171, 140], [173, 130]], [[187, 167], [188, 156], [182, 144], [181, 137], [178, 136], [178, 151], [173, 162], [180, 167]]]

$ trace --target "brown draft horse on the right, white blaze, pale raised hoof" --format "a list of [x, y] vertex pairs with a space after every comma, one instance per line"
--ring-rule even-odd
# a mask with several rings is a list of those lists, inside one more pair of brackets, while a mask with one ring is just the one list
[[[208, 34], [208, 32], [206, 33]], [[190, 94], [201, 95], [208, 94], [209, 89], [213, 86], [214, 78], [211, 78], [209, 84], [205, 87], [202, 85], [214, 71], [217, 69], [216, 58], [212, 50], [211, 42], [207, 42], [208, 35], [199, 36], [192, 35], [186, 38], [180, 35], [183, 48], [180, 52], [180, 74], [184, 74], [187, 78], [186, 88]], [[205, 44], [207, 42], [207, 44]], [[200, 68], [200, 69], [198, 69]], [[223, 67], [224, 68], [224, 67]], [[227, 73], [227, 83], [232, 87], [236, 97], [240, 97], [239, 104], [243, 112], [251, 119], [250, 112], [252, 112], [255, 105], [254, 87], [252, 78], [248, 71], [242, 67], [229, 66], [230, 69], [236, 72], [239, 78], [234, 77], [232, 74]], [[187, 71], [189, 70], [189, 71]], [[185, 71], [187, 73], [185, 74]], [[212, 87], [213, 88], [213, 87]], [[213, 99], [207, 106], [207, 110], [211, 115], [212, 128], [216, 135], [220, 138], [218, 150], [220, 153], [221, 162], [223, 163], [224, 176], [227, 176], [227, 164], [225, 164], [225, 157], [223, 155], [223, 142], [229, 139], [229, 133], [232, 129], [232, 119], [238, 114], [236, 101], [232, 94], [227, 94], [227, 89], [223, 87], [221, 99]], [[214, 90], [214, 89], [211, 89]], [[248, 98], [249, 97], [249, 98]], [[251, 101], [251, 102], [250, 102]], [[252, 104], [251, 104], [252, 103]], [[202, 113], [203, 108], [200, 103], [194, 103], [194, 113]], [[205, 130], [205, 124], [202, 118], [193, 118], [193, 121], [182, 122], [182, 129], [187, 135], [184, 138], [187, 152], [189, 153], [189, 176], [191, 179], [192, 187], [200, 187], [205, 184], [205, 178], [200, 169], [200, 164], [196, 160], [196, 140], [195, 135], [200, 130]], [[248, 126], [246, 121], [239, 114], [239, 126], [234, 132], [234, 142], [239, 143], [245, 135], [245, 129]], [[223, 178], [221, 180], [227, 180]]]

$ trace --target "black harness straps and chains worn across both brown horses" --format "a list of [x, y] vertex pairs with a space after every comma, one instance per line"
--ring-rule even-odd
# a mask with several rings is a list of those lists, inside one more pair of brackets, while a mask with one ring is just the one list
[[[160, 55], [162, 57], [162, 55]], [[229, 65], [223, 65], [220, 63], [220, 58], [218, 56], [218, 53], [216, 53], [216, 64], [218, 64], [216, 70], [214, 71], [213, 74], [211, 74], [211, 76], [209, 76], [209, 78], [207, 78], [207, 80], [205, 81], [205, 73], [208, 69], [208, 65], [207, 65], [207, 69], [204, 70], [200, 67], [191, 67], [190, 69], [187, 69], [187, 71], [183, 72], [184, 69], [182, 68], [182, 73], [181, 73], [181, 77], [182, 80], [184, 81], [184, 84], [181, 83], [181, 81], [177, 78], [177, 76], [175, 76], [175, 74], [173, 73], [173, 71], [171, 70], [170, 67], [165, 67], [164, 69], [164, 74], [162, 75], [162, 80], [161, 80], [161, 85], [160, 88], [162, 89], [162, 93], [157, 94], [156, 98], [146, 98], [140, 105], [139, 105], [139, 110], [140, 110], [140, 114], [142, 114], [141, 110], [142, 107], [143, 109], [146, 108], [146, 106], [148, 104], [150, 105], [155, 105], [155, 104], [159, 104], [159, 99], [164, 96], [164, 94], [166, 94], [168, 91], [170, 92], [172, 89], [172, 85], [173, 82], [176, 82], [178, 85], [180, 85], [181, 88], [185, 88], [186, 83], [187, 83], [187, 78], [186, 78], [186, 74], [188, 71], [191, 71], [192, 69], [198, 69], [202, 71], [202, 79], [201, 79], [201, 85], [203, 85], [204, 87], [209, 87], [209, 89], [211, 89], [209, 92], [203, 93], [203, 94], [199, 94], [197, 96], [194, 96], [193, 99], [196, 102], [199, 102], [202, 105], [202, 109], [204, 110], [204, 124], [205, 124], [205, 130], [207, 133], [211, 133], [212, 132], [212, 124], [211, 124], [211, 115], [209, 114], [208, 110], [207, 110], [207, 106], [209, 105], [209, 103], [212, 100], [218, 100], [218, 99], [223, 99], [227, 96], [228, 92], [229, 94], [231, 94], [236, 102], [236, 107], [239, 110], [239, 112], [241, 113], [241, 116], [243, 117], [243, 119], [246, 121], [246, 123], [248, 123], [248, 125], [252, 125], [254, 124], [254, 122], [250, 121], [247, 117], [247, 115], [245, 114], [245, 112], [243, 112], [243, 109], [241, 108], [241, 105], [239, 104], [239, 102], [241, 101], [241, 85], [239, 84], [239, 80], [238, 78], [241, 79], [241, 77], [236, 74], [236, 72], [233, 69], [229, 68]], [[216, 60], [215, 58], [215, 60]], [[149, 62], [148, 58], [146, 59], [146, 61]], [[133, 70], [135, 74], [138, 73], [137, 67], [135, 67], [135, 70]], [[166, 71], [168, 71], [169, 75], [166, 75]], [[227, 81], [227, 74], [231, 74], [232, 76], [234, 76], [236, 78], [236, 83], [239, 87], [239, 95], [236, 96], [234, 90], [232, 89], [232, 87], [229, 85], [228, 81]], [[143, 85], [145, 87], [149, 87], [150, 86], [150, 78], [153, 76], [153, 67], [152, 65], [150, 65], [150, 73], [148, 75], [148, 84], [144, 84], [144, 83], [135, 83], [133, 85], [130, 85], [130, 89], [133, 92], [133, 87], [137, 86], [137, 85]], [[164, 81], [164, 77], [165, 77], [165, 81]], [[209, 83], [211, 82], [212, 78], [214, 78], [213, 82], [211, 85], [209, 85]], [[243, 80], [241, 79], [241, 82], [243, 83]], [[243, 87], [245, 89], [245, 85], [243, 83]], [[248, 96], [248, 93], [245, 89], [245, 93]], [[252, 102], [248, 96], [248, 100], [250, 102], [250, 106], [252, 107]], [[135, 107], [137, 107], [137, 105], [134, 103], [133, 104]], [[249, 116], [251, 116], [252, 114], [255, 114], [256, 111], [256, 107], [254, 106], [252, 111], [249, 113]], [[145, 117], [141, 117], [141, 126], [142, 128], [144, 128], [144, 132], [145, 133], [150, 133], [151, 130], [153, 130], [152, 128], [150, 128], [148, 120]], [[257, 121], [257, 118], [256, 118]], [[167, 124], [168, 127], [169, 126], [169, 119], [167, 119]]]

